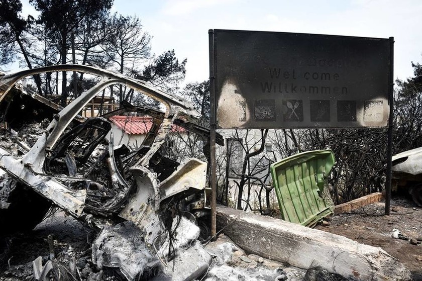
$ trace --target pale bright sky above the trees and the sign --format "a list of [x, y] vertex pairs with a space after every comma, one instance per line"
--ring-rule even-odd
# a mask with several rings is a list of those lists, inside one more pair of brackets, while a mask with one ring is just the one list
[[174, 49], [187, 58], [185, 82], [209, 76], [209, 29], [394, 37], [395, 78], [422, 63], [420, 0], [114, 0], [112, 12], [138, 16], [156, 55]]

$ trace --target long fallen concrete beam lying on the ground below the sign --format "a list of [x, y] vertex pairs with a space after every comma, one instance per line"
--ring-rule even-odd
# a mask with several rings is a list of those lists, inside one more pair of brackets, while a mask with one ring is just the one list
[[351, 280], [410, 280], [410, 271], [379, 247], [298, 224], [217, 208], [217, 228], [245, 251], [307, 269], [321, 266]]

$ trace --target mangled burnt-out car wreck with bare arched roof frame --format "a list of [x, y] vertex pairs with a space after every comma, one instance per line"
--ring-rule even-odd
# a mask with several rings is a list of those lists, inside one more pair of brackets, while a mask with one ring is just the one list
[[[87, 73], [97, 83], [63, 109], [18, 83], [54, 71]], [[83, 118], [84, 107], [111, 85], [140, 91], [165, 112], [122, 102], [117, 110]], [[115, 145], [111, 130], [110, 118], [128, 114], [153, 119], [136, 148]], [[171, 278], [172, 272], [197, 277], [197, 268], [174, 262], [200, 235], [199, 228], [188, 234], [178, 229], [203, 220], [201, 234], [207, 235], [207, 164], [195, 158], [179, 164], [160, 150], [178, 126], [200, 136], [206, 152], [209, 130], [195, 124], [197, 117], [181, 98], [97, 67], [56, 65], [0, 76], [1, 234], [34, 228], [55, 206], [96, 231], [91, 251], [98, 268], [116, 268], [128, 280], [146, 279], [160, 267]], [[217, 143], [223, 144], [221, 136]], [[198, 263], [201, 250], [195, 244], [188, 256]], [[165, 266], [169, 260], [172, 266]]]

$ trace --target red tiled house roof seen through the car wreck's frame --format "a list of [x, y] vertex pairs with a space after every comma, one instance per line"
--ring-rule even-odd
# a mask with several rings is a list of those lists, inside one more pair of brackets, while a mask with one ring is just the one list
[[[109, 120], [130, 135], [147, 134], [152, 127], [152, 117], [147, 116], [113, 116]], [[171, 131], [184, 132], [185, 129], [172, 125]]]

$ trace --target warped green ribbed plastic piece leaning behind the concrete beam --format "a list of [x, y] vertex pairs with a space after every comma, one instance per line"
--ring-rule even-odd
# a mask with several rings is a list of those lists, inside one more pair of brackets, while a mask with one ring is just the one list
[[324, 196], [327, 175], [335, 163], [331, 150], [299, 153], [271, 164], [274, 190], [285, 221], [313, 227], [333, 214], [334, 204]]

